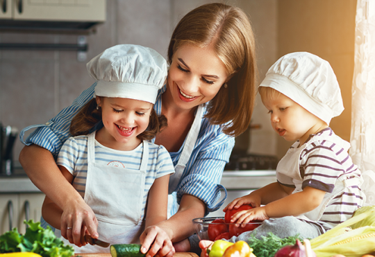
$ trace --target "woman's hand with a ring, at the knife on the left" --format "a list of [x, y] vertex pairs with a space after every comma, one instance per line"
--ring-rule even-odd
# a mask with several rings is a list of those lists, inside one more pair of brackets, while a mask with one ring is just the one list
[[[67, 228], [72, 229], [67, 229]], [[85, 245], [84, 236], [86, 231], [92, 238], [98, 238], [98, 221], [94, 212], [85, 202], [67, 204], [67, 208], [61, 215], [61, 236], [69, 240], [71, 244], [78, 247]]]

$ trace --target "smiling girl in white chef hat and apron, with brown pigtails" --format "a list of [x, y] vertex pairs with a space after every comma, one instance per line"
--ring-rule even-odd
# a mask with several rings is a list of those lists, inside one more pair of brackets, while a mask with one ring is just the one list
[[[58, 155], [58, 166], [98, 221], [99, 240], [137, 243], [144, 226], [167, 219], [169, 175], [174, 166], [162, 145], [149, 143], [165, 117], [153, 110], [156, 96], [167, 76], [167, 62], [151, 48], [118, 45], [94, 57], [88, 65], [97, 80], [94, 98], [76, 114], [70, 137]], [[98, 121], [103, 127], [90, 129]], [[44, 220], [57, 229], [63, 211], [46, 197]], [[87, 245], [81, 233], [76, 253], [109, 252], [109, 248]], [[69, 233], [70, 232], [70, 233]]]

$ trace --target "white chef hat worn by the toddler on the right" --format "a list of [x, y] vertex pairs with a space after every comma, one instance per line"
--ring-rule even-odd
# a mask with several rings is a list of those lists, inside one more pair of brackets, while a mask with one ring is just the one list
[[278, 59], [259, 87], [272, 87], [329, 125], [344, 110], [331, 65], [317, 55], [289, 53]]

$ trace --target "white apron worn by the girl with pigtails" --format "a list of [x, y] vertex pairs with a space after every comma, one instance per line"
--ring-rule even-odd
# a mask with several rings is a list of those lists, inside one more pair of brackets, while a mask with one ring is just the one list
[[[143, 141], [140, 170], [131, 170], [95, 162], [95, 132], [88, 137], [88, 175], [85, 202], [98, 220], [99, 240], [110, 244], [140, 243], [144, 230], [141, 220], [144, 181], [149, 159], [149, 144]], [[65, 240], [65, 242], [68, 242]], [[74, 246], [78, 253], [109, 252], [109, 247]]]

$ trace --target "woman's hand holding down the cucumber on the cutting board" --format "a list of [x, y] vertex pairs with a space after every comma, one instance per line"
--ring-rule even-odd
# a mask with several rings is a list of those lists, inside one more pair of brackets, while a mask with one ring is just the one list
[[153, 257], [156, 254], [160, 257], [172, 257], [176, 252], [168, 234], [158, 226], [147, 227], [140, 236], [140, 242], [141, 252], [146, 254], [146, 257]]

